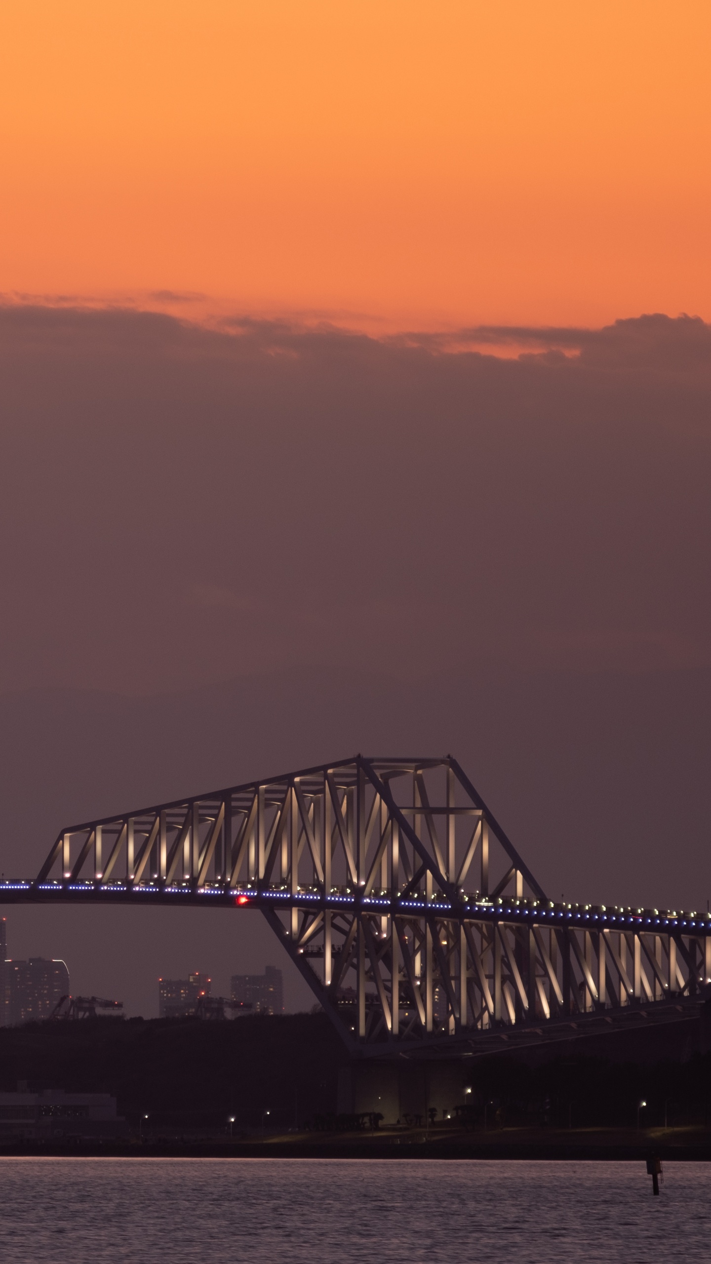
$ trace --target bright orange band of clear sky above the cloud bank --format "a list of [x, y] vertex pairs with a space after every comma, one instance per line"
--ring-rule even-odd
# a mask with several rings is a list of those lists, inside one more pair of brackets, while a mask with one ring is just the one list
[[0, 291], [711, 319], [710, 37], [708, 0], [3, 0]]

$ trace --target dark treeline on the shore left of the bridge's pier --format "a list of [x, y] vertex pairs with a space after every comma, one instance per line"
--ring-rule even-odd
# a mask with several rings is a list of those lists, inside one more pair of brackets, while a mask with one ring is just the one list
[[[294, 1127], [335, 1107], [343, 1047], [321, 1014], [113, 1019], [0, 1029], [0, 1090], [110, 1092], [148, 1129]], [[268, 1115], [266, 1112], [269, 1112]]]

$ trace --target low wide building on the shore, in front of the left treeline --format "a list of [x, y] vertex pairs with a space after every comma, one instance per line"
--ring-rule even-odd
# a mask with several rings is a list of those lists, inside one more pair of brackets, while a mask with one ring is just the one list
[[65, 1093], [52, 1088], [0, 1093], [0, 1139], [5, 1136], [120, 1136], [127, 1122], [109, 1093]]

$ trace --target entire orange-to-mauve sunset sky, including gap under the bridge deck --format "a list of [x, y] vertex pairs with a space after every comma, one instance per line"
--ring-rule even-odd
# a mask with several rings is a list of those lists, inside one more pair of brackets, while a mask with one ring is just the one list
[[[0, 871], [450, 751], [555, 897], [705, 908], [710, 54], [707, 0], [3, 0]], [[277, 959], [142, 913], [10, 952], [144, 1014]]]

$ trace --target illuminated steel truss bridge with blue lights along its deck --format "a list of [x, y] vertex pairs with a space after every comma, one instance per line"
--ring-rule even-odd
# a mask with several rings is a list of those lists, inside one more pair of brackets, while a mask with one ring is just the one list
[[554, 904], [454, 758], [306, 769], [62, 829], [0, 902], [259, 910], [352, 1053], [688, 1006], [711, 916]]

